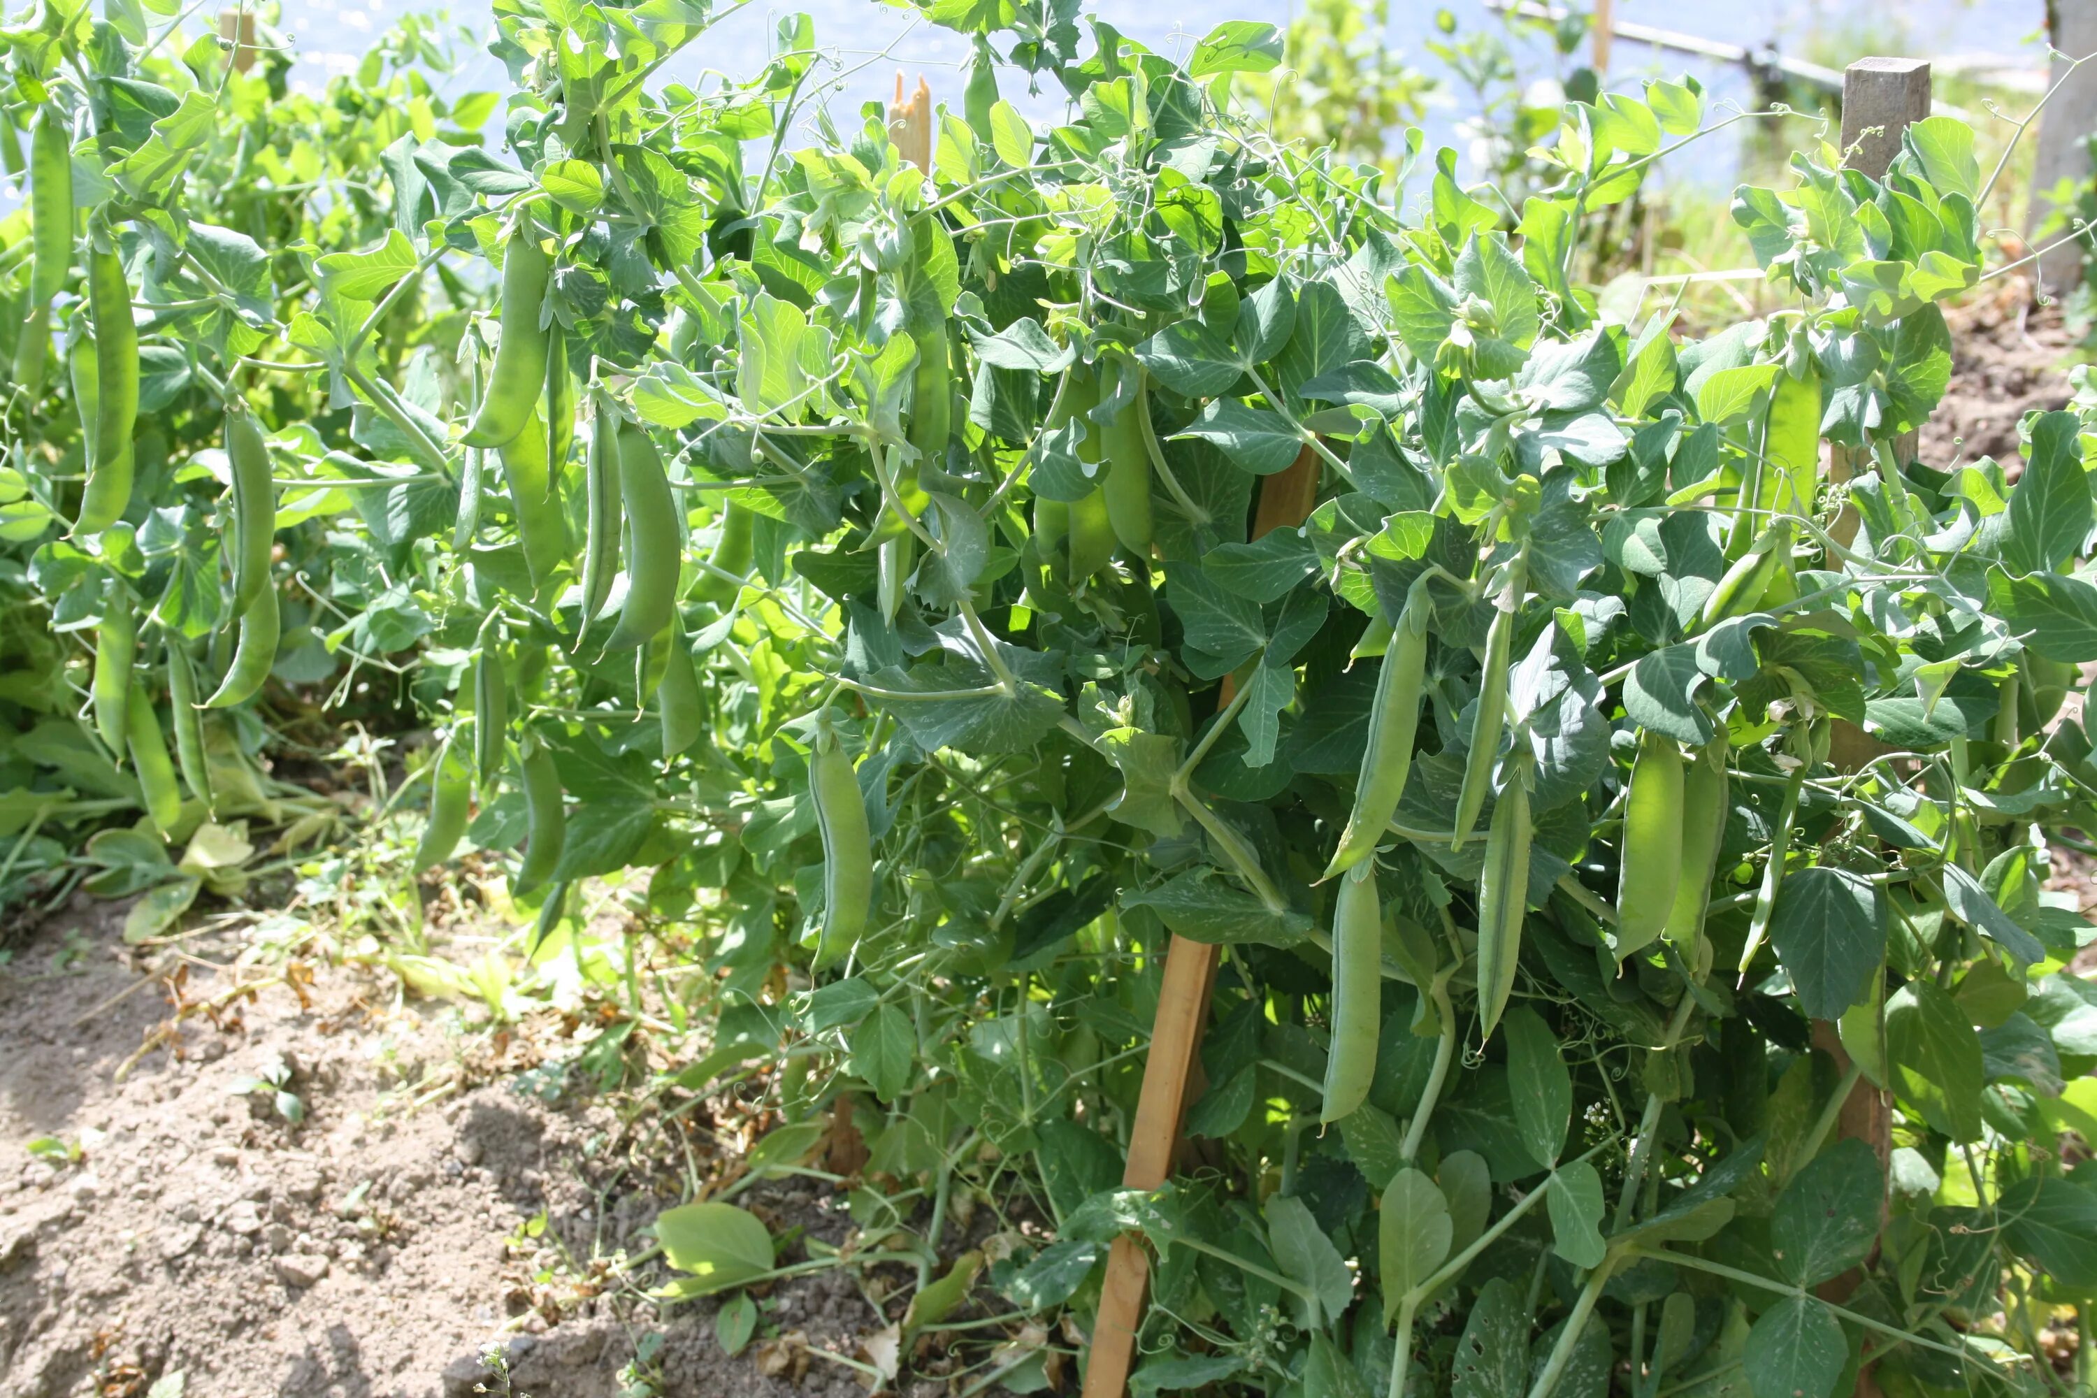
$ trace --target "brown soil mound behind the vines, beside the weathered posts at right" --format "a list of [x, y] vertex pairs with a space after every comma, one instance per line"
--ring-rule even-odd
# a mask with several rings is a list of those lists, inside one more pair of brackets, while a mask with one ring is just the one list
[[1994, 457], [2015, 478], [2017, 423], [2068, 407], [2076, 340], [2059, 304], [2034, 306], [2032, 283], [2009, 277], [1996, 296], [1952, 306], [1952, 381], [1921, 430], [1921, 461], [1948, 469]]

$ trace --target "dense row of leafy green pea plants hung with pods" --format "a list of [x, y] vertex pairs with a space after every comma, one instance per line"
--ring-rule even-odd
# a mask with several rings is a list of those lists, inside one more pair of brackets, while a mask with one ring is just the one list
[[[421, 96], [247, 231], [193, 199], [271, 163], [262, 80], [8, 31], [17, 537], [145, 828], [350, 658], [436, 731], [403, 878], [696, 926], [686, 1079], [761, 1084], [768, 1170], [864, 1155], [837, 1255], [665, 1214], [667, 1302], [900, 1268], [1028, 1392], [1134, 1237], [1143, 1392], [2087, 1388], [2097, 394], [1915, 459], [1971, 132], [1741, 189], [1785, 308], [1690, 340], [1573, 268], [1743, 119], [1692, 82], [1569, 103], [1512, 207], [1275, 143], [1269, 25], [925, 13], [929, 149], [805, 17], [686, 86], [698, 6], [497, 0], [499, 143]], [[1174, 935], [1204, 1088], [1122, 1188]]]

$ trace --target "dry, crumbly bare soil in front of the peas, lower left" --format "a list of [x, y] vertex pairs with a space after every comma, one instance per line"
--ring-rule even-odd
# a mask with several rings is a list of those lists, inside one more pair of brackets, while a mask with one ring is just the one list
[[[463, 1033], [386, 973], [247, 964], [231, 929], [149, 968], [120, 922], [75, 903], [0, 970], [0, 1398], [864, 1392], [820, 1362], [885, 1325], [847, 1272], [772, 1291], [784, 1335], [730, 1360], [711, 1302], [665, 1316], [661, 1264], [610, 1264], [698, 1165], [572, 1090], [572, 1025]], [[824, 1186], [740, 1201], [849, 1230]]]

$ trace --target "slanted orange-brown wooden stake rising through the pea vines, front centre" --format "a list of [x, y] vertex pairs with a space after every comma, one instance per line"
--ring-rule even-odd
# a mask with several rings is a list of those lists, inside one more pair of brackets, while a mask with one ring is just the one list
[[[1252, 537], [1294, 528], [1311, 518], [1317, 503], [1321, 461], [1309, 446], [1279, 476], [1260, 482], [1260, 507], [1252, 516]], [[1231, 679], [1223, 681], [1218, 708], [1231, 702]], [[1143, 1063], [1143, 1092], [1137, 1119], [1128, 1128], [1124, 1188], [1158, 1188], [1172, 1174], [1187, 1098], [1199, 1088], [1202, 1031], [1208, 1029], [1208, 1000], [1216, 985], [1216, 947], [1174, 933], [1166, 952], [1164, 985], [1158, 987], [1158, 1017], [1151, 1021], [1151, 1050]], [[1084, 1362], [1084, 1398], [1122, 1398], [1128, 1367], [1137, 1354], [1143, 1323], [1143, 1291], [1149, 1287], [1151, 1258], [1130, 1235], [1114, 1239], [1107, 1276], [1099, 1291], [1090, 1354]]]

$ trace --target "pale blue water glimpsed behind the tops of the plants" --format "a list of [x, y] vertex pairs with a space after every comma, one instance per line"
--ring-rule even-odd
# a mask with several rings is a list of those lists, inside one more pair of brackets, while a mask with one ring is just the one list
[[[340, 0], [317, 4], [315, 0], [285, 0], [283, 27], [296, 38], [298, 67], [294, 82], [319, 88], [333, 73], [350, 71], [365, 48], [401, 15], [409, 10], [430, 10], [428, 0]], [[1447, 6], [1422, 4], [1418, 0], [1397, 0], [1388, 25], [1390, 48], [1403, 52], [1411, 63], [1428, 73], [1447, 78], [1445, 65], [1428, 54], [1426, 44], [1439, 38], [1434, 29], [1436, 8], [1447, 8], [1460, 31], [1499, 27], [1499, 19], [1480, 0], [1451, 0]], [[895, 86], [895, 71], [908, 75], [914, 88], [918, 73], [931, 82], [933, 101], [950, 103], [958, 109], [963, 88], [963, 61], [969, 42], [946, 29], [937, 29], [916, 17], [914, 10], [877, 0], [803, 0], [801, 4], [747, 4], [667, 65], [667, 78], [698, 84], [707, 69], [732, 78], [749, 78], [763, 67], [774, 42], [776, 23], [782, 15], [805, 10], [816, 21], [816, 44], [826, 48], [841, 69], [853, 71], [845, 84], [828, 96], [833, 119], [849, 130], [858, 124], [858, 109], [866, 101], [887, 99]], [[1277, 0], [1229, 0], [1229, 4], [1160, 4], [1160, 0], [1095, 0], [1088, 10], [1116, 25], [1130, 38], [1166, 54], [1183, 54], [1214, 23], [1223, 19], [1264, 19], [1288, 25], [1292, 6]], [[1883, 0], [1841, 0], [1835, 4], [1814, 0], [1736, 0], [1734, 4], [1682, 4], [1680, 0], [1619, 0], [1617, 17], [1642, 21], [1657, 27], [1696, 34], [1707, 40], [1743, 44], [1749, 48], [1774, 46], [1780, 52], [1803, 57], [1803, 48], [1814, 34], [1841, 36], [1856, 29], [1860, 17], [1873, 13], [1873, 31], [1881, 36], [1881, 48], [1894, 48], [1906, 57], [1942, 54], [2003, 54], [2024, 67], [2045, 63], [2045, 0], [1902, 0], [1885, 6]], [[487, 54], [491, 19], [484, 4], [453, 4], [449, 15], [457, 25], [476, 34], [476, 48], [457, 73], [442, 88], [451, 94], [472, 90], [503, 90], [507, 86], [501, 63]], [[1885, 44], [1887, 31], [1900, 34], [1902, 42]], [[1084, 36], [1082, 50], [1090, 50], [1090, 34]], [[1862, 57], [1850, 54], [1850, 57]], [[1585, 59], [1585, 44], [1579, 61]], [[1525, 78], [1548, 78], [1556, 69], [1554, 54], [1543, 44], [1518, 50]], [[833, 69], [835, 73], [837, 69]], [[1694, 73], [1709, 90], [1711, 103], [1747, 105], [1753, 94], [1747, 75], [1732, 65], [1696, 59], [1682, 52], [1659, 52], [1644, 44], [1617, 40], [1610, 57], [1610, 82], [1617, 88], [1629, 86], [1638, 78], [1661, 78]], [[1019, 107], [1030, 119], [1055, 119], [1063, 109], [1059, 88], [1040, 94], [1015, 92], [1011, 75], [1004, 80], [1004, 99]], [[1462, 134], [1457, 124], [1468, 115], [1462, 109], [1462, 94], [1449, 92], [1447, 105], [1432, 109], [1424, 122], [1428, 147], [1457, 145]], [[2030, 99], [2019, 99], [2019, 109]], [[501, 130], [501, 117], [491, 122]], [[812, 138], [807, 113], [797, 117], [793, 145]], [[1734, 145], [1724, 140], [1701, 143], [1682, 157], [1663, 166], [1667, 180], [1684, 180], [1699, 187], [1722, 189], [1734, 178]]]

